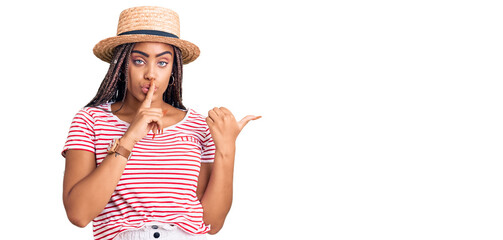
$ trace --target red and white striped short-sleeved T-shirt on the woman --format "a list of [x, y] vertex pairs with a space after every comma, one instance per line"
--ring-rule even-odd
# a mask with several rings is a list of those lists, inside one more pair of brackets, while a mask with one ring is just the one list
[[[81, 109], [74, 117], [68, 149], [95, 153], [96, 164], [129, 127], [110, 111], [110, 103]], [[203, 208], [196, 196], [201, 162], [213, 162], [215, 145], [202, 115], [187, 110], [184, 119], [136, 143], [107, 206], [93, 220], [95, 239], [113, 239], [148, 222], [173, 223], [188, 233], [203, 234]]]

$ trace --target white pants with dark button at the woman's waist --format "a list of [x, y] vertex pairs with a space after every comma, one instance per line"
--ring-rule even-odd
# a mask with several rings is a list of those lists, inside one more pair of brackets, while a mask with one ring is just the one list
[[114, 240], [206, 240], [206, 234], [190, 234], [175, 224], [148, 223], [140, 229], [119, 233]]

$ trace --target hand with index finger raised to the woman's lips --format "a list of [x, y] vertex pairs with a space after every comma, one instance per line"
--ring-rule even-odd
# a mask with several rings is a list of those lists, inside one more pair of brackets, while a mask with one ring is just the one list
[[150, 83], [145, 100], [143, 100], [140, 108], [136, 112], [129, 129], [124, 134], [125, 141], [132, 141], [133, 146], [135, 143], [145, 137], [150, 130], [154, 133], [160, 133], [163, 129], [162, 116], [164, 115], [161, 108], [151, 108], [152, 97], [154, 95], [155, 84]]

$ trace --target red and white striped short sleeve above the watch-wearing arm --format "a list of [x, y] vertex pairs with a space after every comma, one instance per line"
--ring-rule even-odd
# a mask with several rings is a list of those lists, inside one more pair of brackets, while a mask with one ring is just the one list
[[66, 156], [69, 149], [85, 150], [96, 153], [94, 119], [85, 111], [80, 110], [72, 120], [70, 131], [61, 155]]

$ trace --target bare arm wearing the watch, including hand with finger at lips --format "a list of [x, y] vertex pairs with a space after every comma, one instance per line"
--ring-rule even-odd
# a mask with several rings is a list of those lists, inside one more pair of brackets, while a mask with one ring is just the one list
[[[153, 83], [152, 83], [152, 86]], [[150, 87], [120, 145], [131, 151], [151, 129], [162, 129], [160, 108], [151, 108], [154, 87]], [[70, 222], [85, 227], [100, 214], [126, 168], [127, 159], [110, 154], [96, 167], [95, 155], [84, 150], [67, 150], [63, 180], [63, 204]]]

